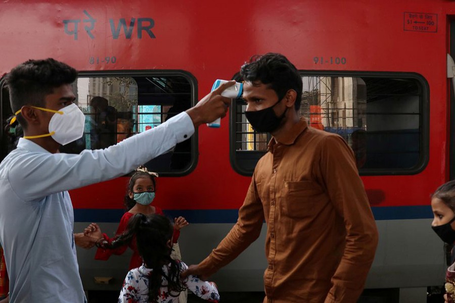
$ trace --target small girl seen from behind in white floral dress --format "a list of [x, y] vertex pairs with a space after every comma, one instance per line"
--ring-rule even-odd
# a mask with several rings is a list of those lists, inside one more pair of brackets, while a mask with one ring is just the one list
[[196, 276], [180, 278], [188, 266], [171, 258], [172, 223], [164, 216], [136, 214], [128, 222], [126, 231], [108, 248], [128, 243], [135, 236], [136, 246], [144, 263], [126, 275], [118, 298], [119, 303], [173, 303], [181, 291], [189, 289], [210, 302], [218, 302], [215, 283], [200, 280]]

